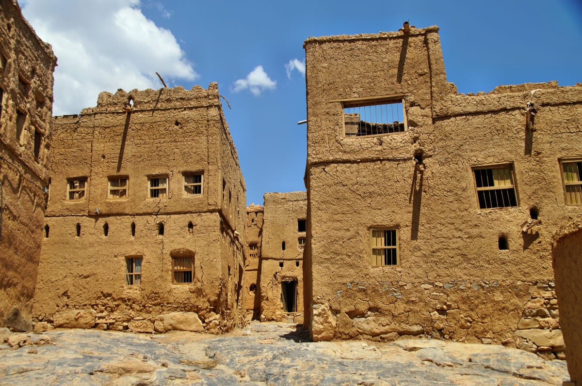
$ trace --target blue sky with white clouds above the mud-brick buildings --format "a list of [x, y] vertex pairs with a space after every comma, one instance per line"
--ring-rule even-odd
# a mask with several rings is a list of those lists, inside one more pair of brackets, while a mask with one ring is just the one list
[[218, 82], [247, 187], [305, 190], [305, 51], [311, 36], [440, 27], [461, 93], [501, 84], [582, 82], [582, 0], [20, 0], [58, 58], [54, 115], [115, 92]]

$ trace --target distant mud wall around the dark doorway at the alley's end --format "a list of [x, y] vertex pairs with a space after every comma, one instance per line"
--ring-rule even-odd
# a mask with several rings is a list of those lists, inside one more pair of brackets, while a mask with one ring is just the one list
[[[260, 257], [261, 320], [303, 322], [303, 249], [297, 220], [306, 219], [306, 192], [265, 193]], [[285, 242], [285, 249], [283, 249]], [[282, 283], [296, 281], [295, 312], [285, 312]], [[287, 284], [286, 284], [287, 285]]]

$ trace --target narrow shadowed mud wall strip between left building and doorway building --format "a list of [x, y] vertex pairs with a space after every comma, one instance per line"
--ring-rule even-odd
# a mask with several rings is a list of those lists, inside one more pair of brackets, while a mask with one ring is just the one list
[[264, 208], [262, 205], [247, 206], [247, 259], [244, 281], [247, 291], [247, 319], [258, 320], [261, 313], [260, 256]]

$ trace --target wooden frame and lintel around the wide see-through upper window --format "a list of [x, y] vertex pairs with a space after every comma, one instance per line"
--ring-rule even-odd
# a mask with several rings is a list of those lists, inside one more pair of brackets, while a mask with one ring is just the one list
[[[381, 96], [374, 96], [373, 98], [352, 98], [352, 99], [339, 99], [330, 102], [341, 102], [342, 103], [342, 127], [343, 127], [343, 137], [345, 138], [361, 138], [361, 137], [377, 137], [379, 135], [393, 135], [393, 134], [400, 134], [405, 133], [408, 131], [408, 119], [406, 116], [406, 101], [404, 99], [405, 95], [403, 94], [396, 94], [396, 95], [381, 95]], [[382, 106], [389, 106], [389, 105], [396, 105], [396, 110], [391, 108], [390, 112], [388, 112], [388, 107], [386, 110], [382, 110]], [[372, 130], [371, 134], [361, 134], [360, 124], [357, 124], [358, 130], [348, 133], [346, 130], [346, 117], [349, 117], [350, 114], [356, 113], [355, 109], [358, 109], [360, 119], [358, 122], [367, 122], [366, 120], [362, 120], [362, 112], [364, 112], [365, 117], [365, 109], [366, 107], [370, 107], [371, 115], [374, 115], [374, 119], [378, 120], [377, 123], [369, 123], [370, 130]], [[371, 109], [374, 108], [374, 112], [372, 113]], [[349, 109], [354, 109], [354, 113], [349, 113]], [[363, 111], [360, 109], [364, 109]], [[347, 111], [346, 111], [347, 110]], [[396, 116], [394, 112], [396, 111]], [[386, 115], [384, 117], [384, 115]], [[392, 122], [388, 122], [388, 118], [392, 117]], [[398, 118], [398, 126], [395, 126], [396, 121], [394, 118]], [[386, 119], [384, 119], [386, 118]], [[386, 120], [386, 122], [384, 122]], [[354, 121], [355, 122], [355, 121]], [[375, 129], [374, 129], [374, 124]], [[378, 129], [378, 124], [382, 125], [381, 130]], [[373, 131], [382, 131], [373, 133]]]

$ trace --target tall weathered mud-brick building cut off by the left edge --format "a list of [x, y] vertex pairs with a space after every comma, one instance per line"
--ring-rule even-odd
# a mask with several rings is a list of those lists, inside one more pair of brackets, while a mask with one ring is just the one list
[[56, 58], [16, 1], [3, 0], [0, 8], [0, 327], [26, 331], [40, 259]]

